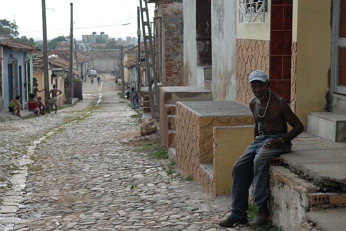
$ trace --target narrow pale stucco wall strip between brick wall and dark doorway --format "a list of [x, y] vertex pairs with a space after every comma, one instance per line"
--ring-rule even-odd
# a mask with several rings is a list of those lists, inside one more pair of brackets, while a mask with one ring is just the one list
[[196, 0], [184, 1], [183, 9], [184, 85], [197, 86]]

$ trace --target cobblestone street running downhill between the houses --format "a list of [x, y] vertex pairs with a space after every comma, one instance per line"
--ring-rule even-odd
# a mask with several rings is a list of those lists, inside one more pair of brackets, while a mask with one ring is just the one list
[[0, 230], [236, 230], [217, 225], [229, 196], [133, 145], [136, 113], [100, 76], [56, 115], [0, 123]]

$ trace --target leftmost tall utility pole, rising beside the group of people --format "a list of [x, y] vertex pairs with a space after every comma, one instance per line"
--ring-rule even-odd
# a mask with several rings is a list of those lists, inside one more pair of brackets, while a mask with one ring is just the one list
[[43, 70], [45, 80], [45, 101], [46, 101], [46, 112], [51, 113], [50, 103], [47, 102], [49, 99], [49, 71], [48, 71], [48, 45], [47, 45], [47, 23], [46, 23], [46, 2], [42, 0], [42, 31], [43, 31]]

